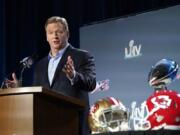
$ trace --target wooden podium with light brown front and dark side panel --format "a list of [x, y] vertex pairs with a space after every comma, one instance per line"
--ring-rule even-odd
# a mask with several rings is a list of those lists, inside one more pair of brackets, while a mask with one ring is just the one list
[[82, 100], [43, 87], [0, 90], [0, 135], [79, 135]]

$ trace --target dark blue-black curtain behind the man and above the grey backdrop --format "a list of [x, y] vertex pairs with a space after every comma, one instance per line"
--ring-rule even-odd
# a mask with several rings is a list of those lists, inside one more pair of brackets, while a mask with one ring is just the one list
[[[0, 81], [19, 68], [33, 53], [45, 56], [44, 23], [50, 16], [69, 22], [70, 43], [79, 47], [79, 27], [105, 19], [179, 4], [179, 0], [1, 0]], [[32, 69], [24, 72], [24, 85], [32, 83]]]

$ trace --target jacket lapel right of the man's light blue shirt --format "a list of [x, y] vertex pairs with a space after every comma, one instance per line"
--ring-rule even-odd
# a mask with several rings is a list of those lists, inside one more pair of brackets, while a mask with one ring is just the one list
[[68, 57], [69, 52], [71, 51], [71, 49], [72, 49], [72, 46], [69, 45], [68, 48], [65, 50], [64, 54], [62, 55], [62, 58], [61, 58], [61, 60], [59, 61], [58, 66], [57, 66], [57, 68], [56, 68], [56, 71], [55, 71], [55, 74], [54, 74], [54, 77], [53, 77], [53, 81], [52, 81], [51, 87], [53, 87], [54, 82], [55, 82], [55, 80], [56, 80], [57, 77], [58, 77], [58, 74], [62, 74], [62, 73], [63, 73], [62, 68], [63, 68], [63, 66], [66, 64], [67, 57]]

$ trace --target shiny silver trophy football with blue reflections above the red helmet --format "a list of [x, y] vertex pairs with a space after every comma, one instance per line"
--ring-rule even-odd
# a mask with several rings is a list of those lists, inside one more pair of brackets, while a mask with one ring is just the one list
[[175, 61], [162, 59], [151, 68], [148, 76], [149, 85], [161, 89], [174, 80], [177, 71], [178, 64]]

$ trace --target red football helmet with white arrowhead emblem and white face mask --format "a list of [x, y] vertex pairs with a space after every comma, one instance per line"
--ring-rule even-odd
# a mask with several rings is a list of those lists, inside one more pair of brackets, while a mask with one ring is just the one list
[[180, 129], [180, 94], [172, 90], [156, 91], [144, 103], [146, 116], [135, 130]]

